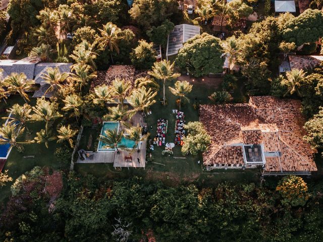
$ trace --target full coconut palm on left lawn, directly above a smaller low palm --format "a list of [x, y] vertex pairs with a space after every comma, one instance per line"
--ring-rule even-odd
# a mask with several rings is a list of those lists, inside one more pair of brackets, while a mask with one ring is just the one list
[[32, 110], [34, 111], [31, 116], [32, 120], [45, 122], [46, 127], [49, 127], [53, 120], [62, 116], [57, 111], [57, 104], [46, 101], [44, 97], [37, 99], [36, 106], [32, 107]]

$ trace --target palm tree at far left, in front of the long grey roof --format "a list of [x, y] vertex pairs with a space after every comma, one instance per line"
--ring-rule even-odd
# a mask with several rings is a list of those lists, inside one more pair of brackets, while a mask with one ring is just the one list
[[7, 110], [8, 113], [11, 113], [11, 116], [3, 118], [9, 118], [11, 123], [18, 123], [19, 126], [25, 127], [27, 132], [29, 132], [26, 123], [31, 120], [31, 111], [32, 109], [29, 104], [25, 103], [23, 106], [21, 106], [16, 103]]

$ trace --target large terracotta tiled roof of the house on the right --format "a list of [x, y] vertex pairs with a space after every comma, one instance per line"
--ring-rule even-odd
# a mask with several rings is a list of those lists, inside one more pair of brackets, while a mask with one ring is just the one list
[[[302, 137], [305, 119], [298, 100], [272, 96], [250, 97], [249, 103], [201, 105], [200, 120], [211, 136], [212, 144], [203, 153], [205, 165], [235, 164], [228, 147], [242, 144], [263, 144], [264, 152], [280, 152], [280, 157], [266, 157], [267, 171], [317, 170], [310, 145]], [[231, 146], [235, 145], [235, 146]]]

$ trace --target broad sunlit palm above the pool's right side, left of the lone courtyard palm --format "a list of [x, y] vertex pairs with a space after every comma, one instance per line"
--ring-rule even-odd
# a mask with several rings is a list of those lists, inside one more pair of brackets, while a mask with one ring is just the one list
[[129, 118], [135, 115], [136, 112], [147, 112], [148, 108], [156, 102], [156, 100], [154, 100], [156, 95], [156, 92], [151, 91], [150, 88], [147, 90], [144, 86], [140, 89], [134, 90], [131, 95], [126, 98], [133, 108], [128, 111]]

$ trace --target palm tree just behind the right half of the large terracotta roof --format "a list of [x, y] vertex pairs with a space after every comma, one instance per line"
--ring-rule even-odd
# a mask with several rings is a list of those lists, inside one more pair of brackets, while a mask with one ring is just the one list
[[283, 80], [282, 84], [287, 85], [288, 90], [284, 94], [284, 97], [288, 94], [293, 95], [296, 94], [301, 97], [302, 94], [299, 91], [299, 87], [301, 86], [301, 81], [305, 78], [306, 72], [303, 70], [293, 69], [290, 72], [286, 72], [287, 80]]

